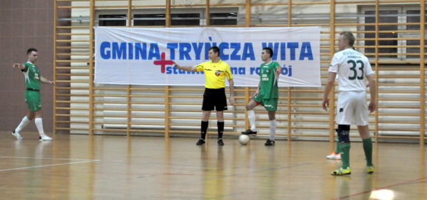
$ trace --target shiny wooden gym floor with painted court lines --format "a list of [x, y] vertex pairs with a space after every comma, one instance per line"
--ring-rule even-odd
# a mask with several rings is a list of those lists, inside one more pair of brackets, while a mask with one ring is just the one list
[[362, 144], [352, 173], [330, 173], [329, 142], [55, 135], [39, 142], [0, 135], [0, 199], [427, 199], [426, 149], [374, 144], [368, 175]]

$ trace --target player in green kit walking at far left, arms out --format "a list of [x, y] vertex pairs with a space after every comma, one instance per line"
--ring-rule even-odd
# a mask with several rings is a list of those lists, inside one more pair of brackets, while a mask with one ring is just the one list
[[28, 113], [22, 119], [21, 123], [12, 131], [12, 135], [17, 137], [18, 140], [22, 140], [21, 130], [27, 126], [32, 119], [35, 118], [37, 130], [39, 131], [40, 141], [50, 141], [52, 137], [49, 137], [43, 131], [43, 123], [41, 120], [41, 97], [40, 97], [40, 82], [55, 85], [55, 82], [50, 81], [41, 76], [39, 67], [35, 65], [39, 53], [37, 49], [28, 49], [27, 51], [28, 61], [27, 63], [15, 63], [13, 67], [21, 69], [23, 76], [25, 77], [25, 102], [28, 106]]

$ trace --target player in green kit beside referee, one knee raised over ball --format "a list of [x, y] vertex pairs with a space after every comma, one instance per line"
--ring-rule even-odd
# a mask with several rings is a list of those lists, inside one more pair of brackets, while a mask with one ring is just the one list
[[242, 132], [244, 135], [256, 134], [256, 119], [253, 108], [261, 104], [269, 112], [270, 138], [265, 142], [265, 146], [274, 145], [275, 135], [275, 111], [278, 109], [279, 87], [278, 78], [282, 72], [279, 63], [271, 60], [273, 49], [265, 47], [262, 49], [261, 58], [264, 63], [260, 66], [260, 84], [252, 99], [246, 105], [251, 129]]

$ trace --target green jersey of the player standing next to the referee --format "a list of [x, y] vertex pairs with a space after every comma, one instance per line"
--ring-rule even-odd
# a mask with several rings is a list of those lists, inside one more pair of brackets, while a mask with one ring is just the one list
[[279, 63], [271, 61], [268, 64], [262, 63], [260, 66], [260, 94], [261, 98], [271, 99], [279, 98], [278, 78], [275, 71], [279, 67]]

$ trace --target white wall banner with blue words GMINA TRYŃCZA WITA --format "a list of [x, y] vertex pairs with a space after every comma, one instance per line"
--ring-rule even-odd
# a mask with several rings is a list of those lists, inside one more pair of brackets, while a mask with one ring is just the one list
[[321, 86], [320, 27], [95, 27], [95, 83], [205, 85], [202, 72], [176, 69], [172, 60], [204, 63], [213, 46], [235, 86], [258, 86], [263, 47], [283, 67], [280, 87]]

